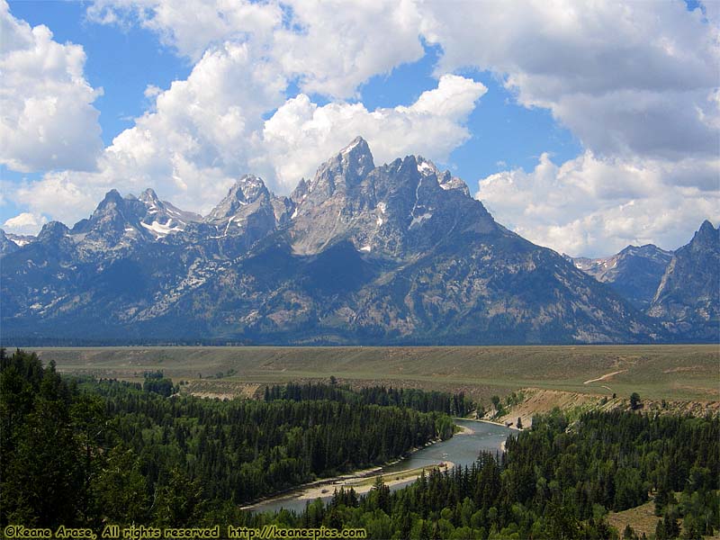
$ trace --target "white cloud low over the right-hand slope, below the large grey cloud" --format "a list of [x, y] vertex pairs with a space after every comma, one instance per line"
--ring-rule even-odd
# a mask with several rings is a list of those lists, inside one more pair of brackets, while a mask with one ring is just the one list
[[518, 234], [572, 256], [599, 257], [628, 244], [686, 244], [702, 220], [720, 219], [720, 159], [600, 159], [586, 151], [556, 165], [483, 178], [479, 198]]

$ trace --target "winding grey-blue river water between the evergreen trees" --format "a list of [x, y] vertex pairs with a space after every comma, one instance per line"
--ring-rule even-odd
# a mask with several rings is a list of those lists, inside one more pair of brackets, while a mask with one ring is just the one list
[[[508, 439], [509, 435], [517, 433], [512, 429], [489, 422], [456, 419], [455, 424], [470, 430], [472, 433], [458, 434], [446, 441], [421, 448], [401, 462], [383, 467], [381, 474], [385, 476], [446, 461], [455, 465], [470, 466], [482, 450], [500, 452], [502, 443]], [[395, 484], [391, 486], [391, 490], [399, 490], [412, 482], [414, 481], [410, 480]], [[320, 499], [330, 500], [333, 490], [332, 486], [328, 486], [327, 495], [323, 495]], [[258, 503], [252, 507], [252, 510], [254, 512], [276, 512], [280, 509], [288, 509], [301, 512], [308, 503], [308, 499], [301, 499], [301, 497], [302, 490], [292, 491], [285, 493], [283, 496]]]

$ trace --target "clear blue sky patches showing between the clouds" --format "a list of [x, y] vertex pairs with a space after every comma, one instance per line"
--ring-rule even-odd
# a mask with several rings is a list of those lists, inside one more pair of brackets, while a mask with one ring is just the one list
[[[103, 95], [94, 104], [100, 111], [105, 145], [132, 127], [133, 119], [148, 109], [151, 103], [144, 94], [148, 85], [166, 89], [174, 80], [186, 78], [192, 69], [186, 58], [177, 57], [151, 31], [88, 21], [84, 3], [22, 0], [10, 2], [10, 8], [14, 16], [31, 26], [48, 26], [56, 40], [83, 46], [87, 55], [85, 76], [91, 85], [103, 88]], [[402, 64], [390, 74], [373, 76], [360, 87], [357, 101], [368, 109], [413, 103], [419, 94], [437, 85], [432, 75], [437, 49], [428, 46], [426, 56], [419, 61]], [[446, 166], [455, 175], [472, 182], [503, 168], [498, 163], [530, 169], [543, 152], [563, 160], [580, 153], [579, 141], [554, 121], [550, 112], [519, 106], [489, 72], [464, 70], [464, 74], [488, 86], [489, 92], [468, 118], [472, 139], [447, 160]], [[286, 95], [293, 97], [293, 88]], [[328, 103], [321, 95], [311, 97]], [[0, 211], [0, 220], [12, 217], [12, 212]]]

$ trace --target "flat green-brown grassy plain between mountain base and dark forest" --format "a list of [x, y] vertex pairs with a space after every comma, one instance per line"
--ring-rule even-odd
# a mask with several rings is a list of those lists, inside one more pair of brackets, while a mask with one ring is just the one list
[[193, 393], [251, 395], [271, 383], [328, 379], [477, 397], [522, 388], [720, 401], [720, 347], [77, 347], [31, 348], [68, 374], [142, 380], [163, 370]]

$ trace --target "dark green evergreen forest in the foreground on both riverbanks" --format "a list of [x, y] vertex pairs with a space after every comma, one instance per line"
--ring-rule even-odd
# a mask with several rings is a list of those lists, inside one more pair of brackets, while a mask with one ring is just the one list
[[248, 501], [383, 464], [453, 436], [462, 394], [329, 384], [266, 389], [260, 400], [78, 379], [0, 349], [0, 525], [362, 527], [370, 538], [642, 538], [608, 513], [653, 500], [648, 538], [720, 528], [720, 419], [559, 410], [510, 437], [503, 454], [423, 474], [391, 491], [336, 491], [302, 512]]

